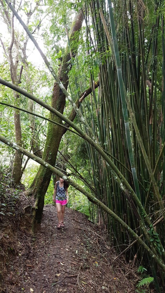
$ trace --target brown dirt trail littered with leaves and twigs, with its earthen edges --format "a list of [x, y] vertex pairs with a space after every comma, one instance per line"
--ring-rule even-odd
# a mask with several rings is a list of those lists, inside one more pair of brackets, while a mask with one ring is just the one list
[[1, 232], [1, 239], [15, 248], [4, 263], [0, 292], [135, 292], [132, 270], [119, 260], [111, 265], [115, 254], [104, 231], [68, 208], [65, 228], [56, 225], [56, 208], [46, 205], [35, 236], [21, 224], [13, 241], [11, 231]]

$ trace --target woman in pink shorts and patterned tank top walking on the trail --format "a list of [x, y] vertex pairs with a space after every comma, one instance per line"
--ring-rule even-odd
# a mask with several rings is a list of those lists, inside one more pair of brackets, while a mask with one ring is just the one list
[[56, 207], [57, 207], [57, 217], [58, 217], [57, 228], [58, 229], [65, 226], [64, 225], [65, 205], [69, 201], [68, 186], [69, 186], [68, 182], [66, 182], [63, 178], [60, 178], [60, 181], [57, 181], [55, 183], [53, 202], [56, 203]]

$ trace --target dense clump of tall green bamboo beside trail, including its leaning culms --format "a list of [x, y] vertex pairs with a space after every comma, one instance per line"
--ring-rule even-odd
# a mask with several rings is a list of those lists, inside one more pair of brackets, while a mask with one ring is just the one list
[[[156, 290], [161, 292], [159, 278], [165, 286], [164, 1], [81, 4], [85, 29], [80, 50], [72, 58], [68, 92], [47, 64], [74, 107], [78, 124], [16, 86], [13, 89], [59, 115], [84, 139], [92, 170], [90, 183], [66, 155], [60, 154], [58, 162], [62, 160], [83, 181], [91, 196], [67, 180], [98, 205], [98, 209], [92, 206], [93, 219], [101, 215], [117, 251], [125, 249], [127, 259], [137, 254], [139, 262], [143, 258], [149, 263]], [[43, 58], [47, 62], [45, 55]], [[0, 82], [9, 86], [2, 79]], [[83, 84], [92, 88], [86, 97], [80, 97]], [[130, 235], [137, 242], [127, 250]], [[139, 241], [142, 236], [144, 244]]]

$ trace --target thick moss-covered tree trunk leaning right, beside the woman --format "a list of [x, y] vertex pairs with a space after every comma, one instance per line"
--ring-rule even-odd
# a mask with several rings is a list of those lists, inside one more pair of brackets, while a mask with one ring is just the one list
[[[78, 39], [79, 34], [75, 33], [80, 31], [80, 28], [83, 23], [83, 14], [82, 12], [77, 13], [75, 16], [75, 19], [73, 20], [72, 27], [70, 29], [70, 46], [72, 47], [72, 42], [74, 42], [74, 51], [73, 56], [75, 56], [76, 51], [78, 49]], [[70, 50], [69, 47], [66, 47], [65, 54], [63, 56], [62, 63], [60, 65], [60, 69], [58, 72], [58, 77], [60, 78], [61, 82], [67, 89], [68, 87], [68, 72], [71, 67], [70, 61]], [[58, 110], [59, 112], [63, 113], [64, 106], [65, 106], [65, 95], [59, 88], [58, 84], [55, 82], [54, 88], [53, 88], [53, 95], [52, 95], [52, 107]], [[58, 122], [62, 123], [62, 121], [56, 117], [53, 113], [50, 113], [49, 118]], [[64, 130], [62, 127], [55, 125], [53, 123], [48, 122], [48, 130], [47, 130], [47, 138], [45, 143], [45, 148], [43, 151], [43, 160], [48, 162], [50, 165], [54, 166], [58, 148], [60, 145], [61, 138], [64, 134]], [[43, 166], [39, 167], [39, 170], [36, 174], [36, 177], [33, 180], [33, 183], [31, 185], [31, 190], [33, 194], [36, 197], [36, 201], [38, 202], [38, 209], [36, 213], [36, 221], [38, 223], [41, 222], [42, 217], [42, 211], [44, 206], [44, 196], [47, 191], [47, 188], [50, 183], [52, 172], [49, 171], [47, 168], [44, 168]]]

